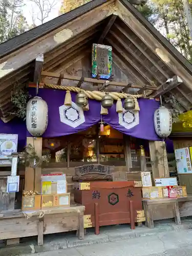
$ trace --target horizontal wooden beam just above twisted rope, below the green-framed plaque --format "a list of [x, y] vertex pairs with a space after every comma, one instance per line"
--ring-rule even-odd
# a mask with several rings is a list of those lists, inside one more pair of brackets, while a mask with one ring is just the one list
[[[42, 71], [41, 72], [41, 76], [43, 76], [43, 77], [59, 78], [60, 77], [60, 73], [53, 73], [53, 72]], [[65, 74], [65, 75], [63, 75], [63, 79], [80, 81], [81, 77], [80, 76], [71, 76], [71, 75], [66, 75]], [[105, 83], [105, 80], [103, 80], [103, 79], [95, 79], [95, 78], [87, 78], [87, 77], [84, 77], [83, 81], [85, 81], [85, 82], [92, 82], [92, 83], [99, 83], [99, 84]], [[126, 87], [127, 83], [109, 81], [109, 86]], [[140, 89], [140, 88], [142, 88], [142, 86], [140, 86], [140, 84], [132, 84], [132, 88], [139, 88]], [[154, 88], [152, 86], [146, 86], [146, 89], [156, 90], [156, 88]]]

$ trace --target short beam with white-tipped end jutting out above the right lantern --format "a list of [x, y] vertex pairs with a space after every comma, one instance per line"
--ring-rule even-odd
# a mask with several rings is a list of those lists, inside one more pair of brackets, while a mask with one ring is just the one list
[[172, 79], [167, 80], [165, 83], [161, 84], [161, 86], [157, 89], [155, 93], [153, 93], [153, 97], [159, 98], [160, 95], [163, 95], [175, 87], [179, 86], [183, 80], [179, 76], [174, 76]]

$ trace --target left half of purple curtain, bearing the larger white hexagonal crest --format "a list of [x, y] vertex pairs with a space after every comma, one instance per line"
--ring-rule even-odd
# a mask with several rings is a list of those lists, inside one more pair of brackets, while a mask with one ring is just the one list
[[[35, 96], [35, 90], [30, 90], [30, 94]], [[66, 136], [73, 133], [78, 133], [83, 130], [87, 130], [92, 125], [98, 123], [100, 121], [100, 103], [96, 100], [89, 99], [89, 111], [83, 111], [82, 115], [84, 115], [84, 122], [78, 125], [77, 127], [72, 127], [66, 123], [60, 121], [59, 115], [59, 107], [64, 106], [66, 91], [60, 90], [51, 90], [51, 89], [40, 89], [38, 96], [44, 99], [48, 104], [48, 127], [43, 137], [60, 137]], [[76, 93], [71, 93], [72, 101], [75, 102]], [[69, 106], [70, 108], [70, 106]], [[69, 110], [68, 108], [68, 110]], [[62, 110], [63, 114], [67, 110]], [[74, 118], [82, 119], [82, 115], [78, 116], [78, 109], [76, 107], [70, 108], [70, 113], [74, 115]], [[73, 112], [72, 112], [73, 111]], [[67, 117], [67, 112], [65, 113]], [[75, 119], [76, 120], [76, 119]], [[74, 121], [75, 121], [74, 120]], [[66, 121], [66, 119], [65, 119]], [[78, 120], [77, 120], [78, 121]], [[73, 125], [72, 122], [69, 122]], [[27, 132], [27, 136], [30, 134]]]

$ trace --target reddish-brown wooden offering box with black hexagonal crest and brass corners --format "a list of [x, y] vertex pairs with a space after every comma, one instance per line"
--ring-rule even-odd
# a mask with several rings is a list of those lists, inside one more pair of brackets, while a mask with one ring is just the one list
[[75, 185], [75, 202], [86, 206], [84, 228], [145, 221], [141, 188], [134, 181], [87, 182]]

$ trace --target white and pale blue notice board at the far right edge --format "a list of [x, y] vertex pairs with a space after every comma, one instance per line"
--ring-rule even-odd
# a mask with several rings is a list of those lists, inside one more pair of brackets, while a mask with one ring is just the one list
[[178, 174], [192, 174], [189, 148], [183, 147], [175, 150]]

